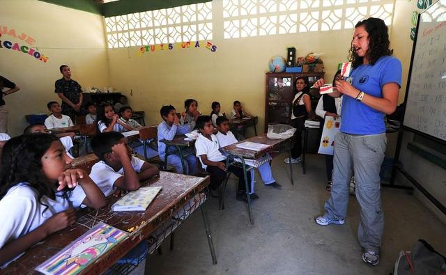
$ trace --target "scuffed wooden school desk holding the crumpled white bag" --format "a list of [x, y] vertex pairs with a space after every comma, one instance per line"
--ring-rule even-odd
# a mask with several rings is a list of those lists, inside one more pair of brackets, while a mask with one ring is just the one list
[[[237, 144], [243, 143], [246, 141], [266, 144], [269, 147], [265, 148], [263, 150], [259, 150], [259, 151], [247, 150], [247, 149], [237, 147]], [[229, 146], [225, 146], [222, 149], [224, 150], [224, 152], [229, 154], [229, 156], [240, 159], [241, 167], [243, 168], [243, 172], [245, 174], [246, 189], [249, 190], [248, 184], [250, 184], [250, 182], [247, 182], [247, 177], [246, 177], [246, 171], [247, 171], [246, 166], [247, 165], [245, 164], [245, 159], [258, 159], [259, 157], [267, 154], [268, 152], [283, 152], [283, 151], [288, 151], [289, 157], [291, 157], [291, 148], [293, 148], [293, 145], [294, 145], [294, 136], [291, 136], [288, 139], [268, 139], [266, 134], [261, 134], [259, 136], [254, 136], [252, 138], [245, 139], [244, 141], [240, 141], [238, 143], [233, 143]], [[228, 157], [228, 159], [229, 158], [230, 157]], [[226, 164], [227, 164], [227, 162], [228, 161], [226, 160]], [[255, 166], [259, 167], [263, 163], [256, 164]], [[291, 175], [291, 184], [294, 184], [293, 164], [291, 164], [291, 162], [289, 163], [289, 168], [290, 168], [290, 175]], [[251, 200], [249, 199], [249, 195], [247, 196], [247, 198], [248, 198], [249, 221], [251, 222], [251, 224], [254, 224], [254, 218], [252, 217], [252, 212], [251, 212]]]

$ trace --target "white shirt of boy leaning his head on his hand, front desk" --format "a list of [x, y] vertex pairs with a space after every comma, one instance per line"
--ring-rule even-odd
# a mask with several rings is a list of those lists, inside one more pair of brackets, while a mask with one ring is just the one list
[[[137, 157], [132, 157], [130, 161], [134, 171], [139, 173], [144, 164], [144, 160]], [[109, 166], [104, 161], [96, 162], [93, 167], [91, 167], [90, 178], [95, 182], [96, 185], [101, 189], [105, 196], [110, 196], [113, 194], [116, 187], [114, 182], [124, 175], [124, 168], [121, 167], [119, 171], [114, 171], [112, 166]]]

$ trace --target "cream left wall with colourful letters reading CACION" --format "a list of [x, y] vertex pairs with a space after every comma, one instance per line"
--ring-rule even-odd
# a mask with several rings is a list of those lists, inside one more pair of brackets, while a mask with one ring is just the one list
[[[7, 26], [31, 36], [33, 46], [4, 33], [0, 40], [18, 42], [48, 57], [47, 62], [0, 48], [0, 74], [20, 86], [20, 91], [6, 97], [9, 109], [9, 133], [22, 133], [29, 113], [46, 113], [46, 103], [59, 101], [54, 81], [61, 78], [59, 66], [67, 64], [75, 79], [87, 86], [109, 87], [107, 49], [102, 17], [93, 13], [64, 8], [37, 0], [2, 0], [0, 31]], [[37, 49], [38, 48], [38, 49]], [[26, 49], [26, 48], [25, 48]]]

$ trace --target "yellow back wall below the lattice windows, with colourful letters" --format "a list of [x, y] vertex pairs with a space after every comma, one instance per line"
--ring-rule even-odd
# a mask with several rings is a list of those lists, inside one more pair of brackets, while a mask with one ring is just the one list
[[199, 101], [199, 111], [204, 114], [210, 113], [214, 100], [226, 113], [230, 113], [234, 100], [240, 100], [248, 112], [259, 116], [261, 132], [265, 72], [271, 56], [286, 56], [286, 47], [291, 46], [296, 47], [298, 56], [323, 53], [330, 82], [337, 64], [346, 61], [353, 29], [223, 39], [222, 9], [222, 1], [213, 1], [212, 43], [217, 46], [216, 52], [191, 47], [141, 55], [139, 47], [109, 49], [112, 86], [129, 96], [134, 109], [146, 111], [146, 124], [160, 123], [163, 104], [173, 104], [180, 111], [190, 97]]

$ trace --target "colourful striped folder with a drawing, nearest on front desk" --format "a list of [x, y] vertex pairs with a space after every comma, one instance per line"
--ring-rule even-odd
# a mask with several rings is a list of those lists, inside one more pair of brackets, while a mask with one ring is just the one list
[[128, 233], [108, 224], [98, 223], [55, 256], [36, 267], [36, 271], [43, 274], [78, 274], [127, 237]]

